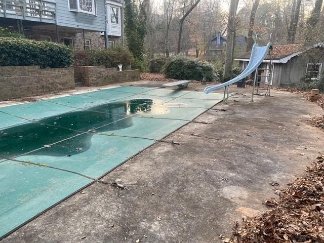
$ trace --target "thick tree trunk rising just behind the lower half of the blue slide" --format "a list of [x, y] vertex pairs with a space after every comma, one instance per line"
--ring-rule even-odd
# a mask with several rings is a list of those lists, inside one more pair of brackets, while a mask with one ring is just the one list
[[237, 10], [238, 0], [231, 0], [229, 7], [228, 23], [227, 23], [227, 42], [225, 50], [225, 65], [223, 77], [227, 77], [231, 73], [234, 47], [235, 47], [235, 16]]

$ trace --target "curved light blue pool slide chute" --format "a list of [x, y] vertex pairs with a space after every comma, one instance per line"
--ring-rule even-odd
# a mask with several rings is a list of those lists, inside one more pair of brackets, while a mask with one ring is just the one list
[[254, 44], [252, 47], [250, 62], [248, 64], [248, 66], [246, 67], [246, 69], [244, 69], [244, 71], [242, 71], [238, 76], [234, 77], [233, 79], [231, 79], [223, 84], [212, 85], [212, 86], [206, 87], [204, 92], [206, 94], [209, 94], [213, 90], [218, 90], [218, 89], [224, 88], [226, 86], [232, 85], [232, 84], [238, 82], [239, 80], [249, 76], [263, 62], [264, 58], [268, 54], [269, 48], [272, 48], [271, 43], [268, 43], [264, 47], [259, 47], [258, 44]]

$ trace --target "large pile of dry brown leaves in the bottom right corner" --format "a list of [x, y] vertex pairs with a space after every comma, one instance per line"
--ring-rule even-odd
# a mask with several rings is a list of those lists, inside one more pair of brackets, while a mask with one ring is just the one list
[[270, 207], [254, 219], [233, 227], [224, 242], [324, 242], [324, 155], [318, 156], [307, 175], [277, 190], [278, 201], [265, 201]]

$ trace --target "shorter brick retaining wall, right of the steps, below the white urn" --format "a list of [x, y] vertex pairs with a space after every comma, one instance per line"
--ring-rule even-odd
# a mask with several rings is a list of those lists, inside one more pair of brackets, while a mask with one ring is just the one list
[[84, 86], [103, 86], [115, 83], [125, 83], [140, 80], [138, 70], [118, 71], [117, 68], [105, 66], [72, 66], [74, 68], [75, 82]]

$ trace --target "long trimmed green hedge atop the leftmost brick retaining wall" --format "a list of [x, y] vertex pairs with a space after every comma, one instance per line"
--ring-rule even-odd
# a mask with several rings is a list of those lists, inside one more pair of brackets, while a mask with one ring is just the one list
[[53, 42], [0, 37], [0, 66], [66, 67], [72, 63], [71, 50]]

